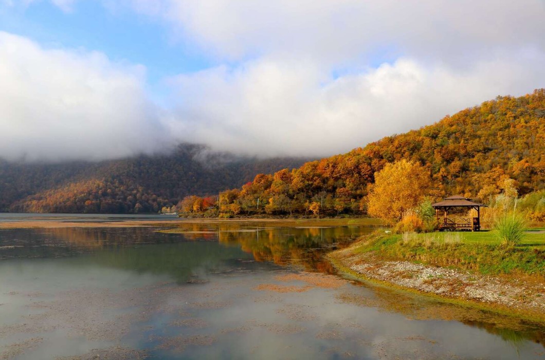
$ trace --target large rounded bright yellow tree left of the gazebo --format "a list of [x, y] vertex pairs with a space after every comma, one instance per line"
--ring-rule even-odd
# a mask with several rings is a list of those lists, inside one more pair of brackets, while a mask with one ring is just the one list
[[367, 213], [373, 217], [395, 221], [408, 209], [416, 207], [430, 187], [429, 171], [405, 159], [386, 164], [375, 173], [375, 183], [367, 196]]

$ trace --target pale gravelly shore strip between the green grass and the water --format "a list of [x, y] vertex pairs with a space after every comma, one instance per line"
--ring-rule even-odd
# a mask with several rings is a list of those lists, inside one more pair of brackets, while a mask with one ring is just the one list
[[385, 260], [376, 251], [362, 251], [367, 242], [363, 239], [333, 251], [328, 258], [341, 272], [359, 280], [545, 322], [545, 282], [539, 277], [495, 276], [402, 259]]

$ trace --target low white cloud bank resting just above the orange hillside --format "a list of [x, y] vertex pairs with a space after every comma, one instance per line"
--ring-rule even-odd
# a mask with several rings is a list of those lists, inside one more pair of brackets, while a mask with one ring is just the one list
[[543, 55], [517, 53], [462, 71], [400, 58], [326, 78], [310, 61], [260, 58], [171, 79], [180, 102], [170, 133], [245, 154], [341, 153], [498, 94], [531, 91], [545, 80], [544, 62]]

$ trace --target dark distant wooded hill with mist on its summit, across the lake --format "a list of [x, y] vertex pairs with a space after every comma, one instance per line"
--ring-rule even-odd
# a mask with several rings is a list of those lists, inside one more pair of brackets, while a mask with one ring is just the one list
[[158, 212], [188, 194], [217, 194], [256, 173], [296, 167], [304, 159], [259, 160], [180, 145], [168, 155], [88, 163], [0, 161], [0, 211], [67, 213]]

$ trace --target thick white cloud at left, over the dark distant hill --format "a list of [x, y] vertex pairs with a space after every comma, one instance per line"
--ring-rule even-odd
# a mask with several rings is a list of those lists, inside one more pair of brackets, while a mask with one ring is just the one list
[[144, 70], [0, 32], [0, 157], [104, 159], [155, 151], [164, 129], [144, 92]]

